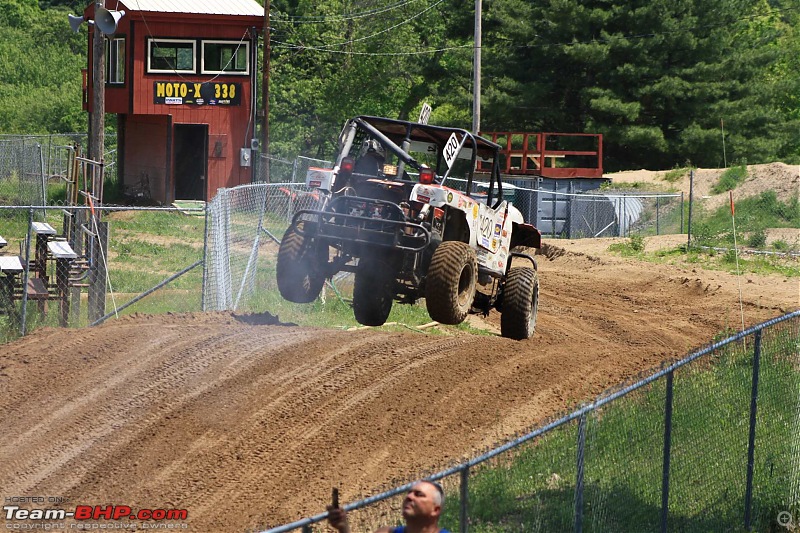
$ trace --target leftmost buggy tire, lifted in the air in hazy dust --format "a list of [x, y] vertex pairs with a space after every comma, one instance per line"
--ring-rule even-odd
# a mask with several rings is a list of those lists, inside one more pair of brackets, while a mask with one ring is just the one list
[[289, 226], [278, 248], [278, 290], [284, 299], [298, 304], [316, 300], [325, 283], [322, 266], [327, 258], [322, 256], [313, 238], [303, 237], [298, 232], [298, 228], [301, 231], [304, 227], [312, 229], [312, 224], [300, 221], [296, 226]]

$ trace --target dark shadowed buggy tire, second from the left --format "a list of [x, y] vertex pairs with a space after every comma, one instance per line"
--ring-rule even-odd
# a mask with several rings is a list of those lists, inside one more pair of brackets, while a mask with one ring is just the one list
[[394, 270], [379, 259], [360, 259], [353, 286], [353, 314], [359, 324], [382, 326], [392, 311]]

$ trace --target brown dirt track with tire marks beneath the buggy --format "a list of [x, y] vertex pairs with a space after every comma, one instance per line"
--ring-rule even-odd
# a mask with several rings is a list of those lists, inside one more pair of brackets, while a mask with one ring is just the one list
[[[732, 276], [580, 246], [540, 258], [526, 342], [209, 314], [0, 346], [0, 495], [185, 508], [195, 531], [277, 525], [322, 512], [333, 485], [352, 501], [437, 470], [738, 328]], [[800, 305], [797, 278], [742, 283], [748, 324]]]

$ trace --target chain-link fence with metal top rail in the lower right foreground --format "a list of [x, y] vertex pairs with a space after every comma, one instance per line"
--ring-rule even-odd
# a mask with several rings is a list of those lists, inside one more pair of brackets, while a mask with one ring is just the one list
[[[800, 311], [431, 475], [451, 531], [777, 531], [800, 520]], [[345, 505], [391, 524], [411, 483]], [[326, 514], [272, 528], [313, 525]]]

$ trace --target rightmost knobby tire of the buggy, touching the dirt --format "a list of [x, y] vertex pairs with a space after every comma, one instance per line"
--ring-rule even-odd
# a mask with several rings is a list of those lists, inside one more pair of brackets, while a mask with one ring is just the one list
[[518, 341], [529, 339], [536, 330], [539, 310], [539, 276], [528, 267], [512, 268], [503, 291], [500, 333]]

